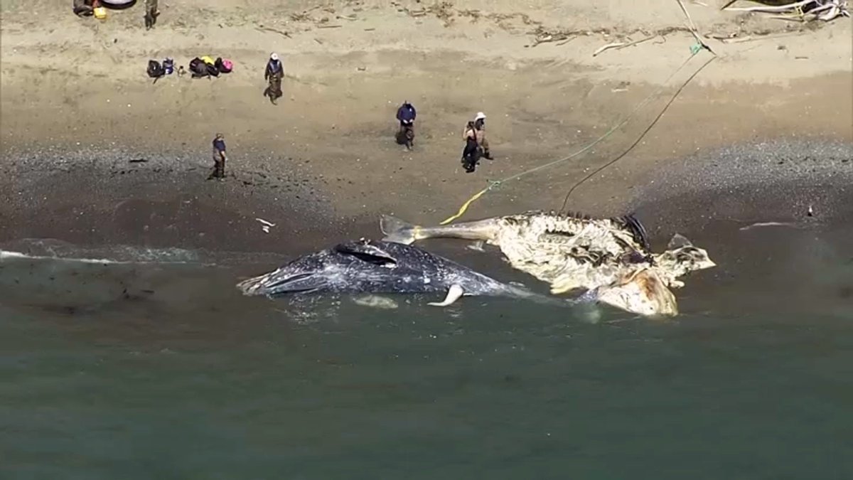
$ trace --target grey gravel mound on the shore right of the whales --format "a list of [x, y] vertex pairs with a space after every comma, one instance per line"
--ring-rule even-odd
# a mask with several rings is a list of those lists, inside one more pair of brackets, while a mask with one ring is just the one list
[[853, 144], [792, 139], [700, 152], [638, 187], [630, 208], [659, 240], [673, 231], [702, 235], [720, 222], [850, 222]]

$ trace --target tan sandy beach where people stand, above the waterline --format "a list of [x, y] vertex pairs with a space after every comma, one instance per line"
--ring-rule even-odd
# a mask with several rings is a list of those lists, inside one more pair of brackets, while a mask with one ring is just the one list
[[[743, 143], [836, 142], [821, 172], [853, 169], [850, 19], [803, 24], [722, 3], [685, 2], [717, 58], [569, 208], [620, 214], [641, 190], [676, 196], [691, 182], [662, 191], [656, 179]], [[712, 56], [684, 64], [696, 41], [676, 0], [188, 0], [161, 2], [151, 31], [142, 7], [96, 20], [66, 1], [3, 3], [0, 239], [281, 251], [376, 236], [380, 213], [436, 223], [488, 181], [574, 154], [654, 93], [594, 148], [502, 184], [465, 218], [560, 208]], [[638, 43], [593, 55], [615, 42]], [[286, 71], [276, 106], [263, 97], [272, 51]], [[145, 73], [149, 59], [204, 55], [234, 72], [155, 84]], [[405, 99], [418, 109], [412, 152], [393, 137]], [[496, 159], [466, 174], [461, 127], [478, 111]], [[205, 180], [216, 132], [229, 148], [224, 183]], [[256, 218], [276, 227], [265, 234]]]

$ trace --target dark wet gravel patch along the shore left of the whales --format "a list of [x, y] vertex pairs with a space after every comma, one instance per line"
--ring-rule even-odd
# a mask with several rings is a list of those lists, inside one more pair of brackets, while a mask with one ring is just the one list
[[[334, 218], [322, 179], [231, 165], [226, 181], [207, 180], [209, 153], [40, 148], [3, 156], [12, 175], [2, 184], [0, 242], [286, 252], [348, 237], [352, 226]], [[276, 226], [264, 233], [256, 218]]]

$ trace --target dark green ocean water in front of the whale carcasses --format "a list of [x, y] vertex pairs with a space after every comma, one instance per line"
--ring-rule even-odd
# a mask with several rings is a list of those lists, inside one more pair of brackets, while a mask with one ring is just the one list
[[234, 285], [281, 255], [10, 243], [0, 477], [853, 477], [853, 229], [742, 228], [693, 238], [719, 266], [670, 321], [273, 301]]

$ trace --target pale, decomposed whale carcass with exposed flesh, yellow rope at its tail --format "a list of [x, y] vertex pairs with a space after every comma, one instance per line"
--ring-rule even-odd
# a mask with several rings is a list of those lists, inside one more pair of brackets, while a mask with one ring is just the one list
[[588, 215], [525, 212], [453, 225], [421, 226], [385, 215], [384, 240], [410, 244], [426, 238], [464, 238], [495, 245], [514, 268], [548, 282], [551, 293], [585, 291], [593, 298], [633, 313], [677, 314], [670, 288], [677, 278], [716, 264], [705, 249], [681, 235], [654, 254], [639, 220], [628, 215], [594, 219]]

